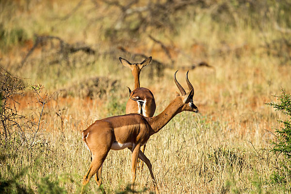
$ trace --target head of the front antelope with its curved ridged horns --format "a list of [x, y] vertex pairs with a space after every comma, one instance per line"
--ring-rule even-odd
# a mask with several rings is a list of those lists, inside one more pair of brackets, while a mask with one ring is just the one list
[[177, 79], [176, 79], [177, 71], [174, 74], [174, 81], [175, 81], [175, 83], [176, 83], [176, 85], [181, 93], [181, 96], [178, 92], [176, 92], [176, 98], [182, 100], [182, 102], [184, 104], [179, 111], [180, 112], [190, 111], [190, 112], [198, 113], [198, 108], [193, 103], [194, 88], [188, 79], [188, 72], [189, 71], [187, 71], [187, 73], [186, 73], [186, 82], [187, 82], [188, 88], [190, 90], [188, 93], [185, 92], [184, 88], [177, 81]]

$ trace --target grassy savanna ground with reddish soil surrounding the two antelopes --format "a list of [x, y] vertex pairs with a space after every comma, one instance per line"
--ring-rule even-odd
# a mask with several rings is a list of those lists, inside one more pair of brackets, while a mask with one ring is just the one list
[[[290, 8], [287, 0], [0, 1], [1, 72], [26, 86], [13, 95], [19, 104], [9, 102], [36, 123], [11, 126], [7, 137], [1, 126], [1, 188], [79, 193], [90, 165], [81, 131], [124, 114], [126, 86], [133, 88], [118, 57], [152, 56], [140, 81], [155, 96], [155, 115], [175, 97], [176, 70], [186, 91], [190, 70], [199, 109], [178, 114], [147, 143], [160, 192], [289, 193], [289, 179], [272, 179], [282, 156], [270, 152], [284, 116], [265, 103], [281, 88], [291, 92]], [[107, 193], [128, 192], [130, 161], [129, 150], [110, 151]], [[147, 168], [137, 170], [136, 190], [153, 191]], [[87, 192], [99, 192], [93, 178]]]

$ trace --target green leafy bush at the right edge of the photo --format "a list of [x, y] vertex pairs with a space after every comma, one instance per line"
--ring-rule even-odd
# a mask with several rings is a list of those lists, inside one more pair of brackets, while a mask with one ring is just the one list
[[276, 140], [272, 142], [272, 152], [279, 153], [284, 156], [284, 160], [280, 163], [280, 172], [274, 172], [271, 176], [273, 183], [286, 183], [291, 178], [291, 95], [281, 90], [281, 96], [276, 96], [280, 103], [267, 103], [267, 105], [275, 108], [287, 116], [286, 120], [278, 120], [283, 127], [276, 129]]

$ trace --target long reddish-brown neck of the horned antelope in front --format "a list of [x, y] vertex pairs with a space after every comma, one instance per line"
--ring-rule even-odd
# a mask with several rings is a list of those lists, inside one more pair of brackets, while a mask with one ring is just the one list
[[159, 130], [161, 130], [176, 114], [181, 113], [182, 106], [182, 101], [175, 98], [162, 113], [147, 118], [147, 122], [154, 130], [153, 134], [159, 132]]

